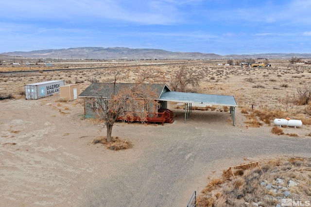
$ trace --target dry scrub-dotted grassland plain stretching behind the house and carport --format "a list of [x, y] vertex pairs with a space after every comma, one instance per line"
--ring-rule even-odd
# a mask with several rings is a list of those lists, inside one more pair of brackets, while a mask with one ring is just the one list
[[[78, 83], [83, 90], [91, 82], [113, 80], [116, 70], [121, 71], [119, 82], [131, 83], [148, 74], [151, 78], [147, 79], [147, 82], [169, 85], [174, 71], [185, 62], [190, 72], [200, 71], [204, 74], [200, 86], [189, 90], [198, 93], [234, 95], [239, 104], [238, 109], [245, 116], [243, 120], [245, 127], [273, 125], [272, 121], [275, 118], [286, 117], [302, 120], [303, 125], [311, 124], [311, 105], [300, 104], [301, 98], [297, 94], [298, 88], [311, 86], [311, 65], [291, 65], [288, 60], [270, 60], [272, 67], [266, 68], [218, 66], [218, 63], [226, 63], [225, 60], [57, 63], [53, 67], [39, 64], [31, 65], [29, 68], [23, 65], [2, 66], [1, 71], [38, 69], [40, 71], [0, 75], [0, 96], [23, 98], [25, 84], [49, 80], [65, 80], [66, 84]], [[65, 70], [75, 68], [94, 69]], [[55, 70], [45, 71], [46, 69]]]

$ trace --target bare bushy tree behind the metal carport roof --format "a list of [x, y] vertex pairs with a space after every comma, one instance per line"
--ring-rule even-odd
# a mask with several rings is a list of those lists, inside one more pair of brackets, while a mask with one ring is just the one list
[[173, 73], [169, 83], [173, 91], [185, 92], [187, 86], [198, 86], [203, 73], [194, 69], [188, 69], [183, 63], [179, 69]]

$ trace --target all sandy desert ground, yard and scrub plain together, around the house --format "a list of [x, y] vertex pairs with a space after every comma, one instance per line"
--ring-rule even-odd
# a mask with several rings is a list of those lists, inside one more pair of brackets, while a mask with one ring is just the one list
[[[218, 65], [226, 60], [0, 66], [0, 95], [11, 95], [0, 101], [0, 206], [186, 206], [207, 177], [229, 166], [283, 155], [310, 157], [311, 108], [297, 104], [297, 90], [311, 85], [311, 65], [269, 61], [271, 67], [264, 68]], [[150, 83], [169, 86], [182, 64], [204, 74], [192, 91], [235, 96], [235, 126], [223, 107], [194, 110], [185, 123], [184, 110], [169, 103], [172, 124], [117, 122], [113, 136], [133, 148], [111, 151], [92, 143], [105, 128], [83, 119], [81, 100], [63, 102], [59, 94], [25, 100], [23, 93], [25, 84], [49, 80], [79, 83], [83, 90], [92, 81], [111, 81], [116, 70], [120, 82], [150, 73]], [[303, 125], [283, 127], [278, 136], [271, 132], [273, 118], [260, 120], [256, 111]]]

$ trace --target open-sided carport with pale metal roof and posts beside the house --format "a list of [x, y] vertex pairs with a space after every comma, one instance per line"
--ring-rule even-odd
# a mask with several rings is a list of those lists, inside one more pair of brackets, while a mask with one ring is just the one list
[[234, 96], [167, 91], [161, 94], [158, 100], [185, 103], [185, 122], [189, 116], [191, 105], [193, 103], [230, 106], [230, 115], [232, 119], [232, 125], [234, 126], [235, 107], [238, 106]]

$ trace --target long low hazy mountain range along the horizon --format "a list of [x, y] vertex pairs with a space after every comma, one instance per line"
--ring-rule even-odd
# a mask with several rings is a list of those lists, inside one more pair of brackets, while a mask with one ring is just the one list
[[[311, 58], [311, 53], [264, 53], [264, 54], [230, 54], [219, 55], [200, 52], [171, 52], [159, 49], [80, 47], [59, 50], [39, 50], [31, 52], [3, 52], [2, 55], [28, 58], [62, 58], [62, 59], [247, 59], [247, 58]], [[0, 55], [1, 55], [0, 54]]]

